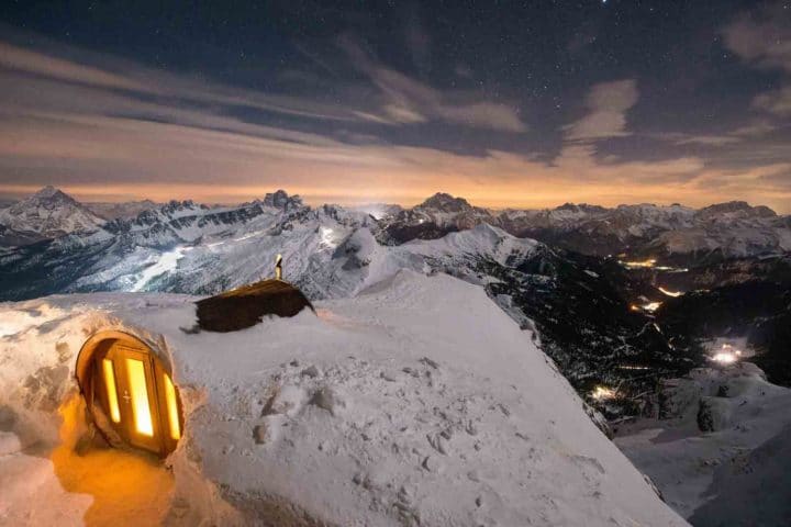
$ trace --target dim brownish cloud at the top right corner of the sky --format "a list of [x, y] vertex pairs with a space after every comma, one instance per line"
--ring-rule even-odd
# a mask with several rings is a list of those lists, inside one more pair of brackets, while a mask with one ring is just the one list
[[[742, 13], [722, 35], [725, 46], [746, 63], [791, 75], [791, 9], [787, 2]], [[791, 115], [791, 85], [759, 93], [753, 104], [776, 115]]]

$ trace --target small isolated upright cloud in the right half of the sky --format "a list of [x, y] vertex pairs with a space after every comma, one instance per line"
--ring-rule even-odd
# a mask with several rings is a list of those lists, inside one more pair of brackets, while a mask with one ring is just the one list
[[601, 82], [591, 88], [581, 120], [564, 126], [566, 138], [592, 141], [630, 135], [626, 112], [637, 103], [637, 82], [634, 79]]

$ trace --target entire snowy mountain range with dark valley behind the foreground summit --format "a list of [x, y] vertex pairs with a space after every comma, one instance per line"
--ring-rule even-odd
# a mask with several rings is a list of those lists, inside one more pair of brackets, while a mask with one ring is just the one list
[[[285, 278], [312, 299], [355, 295], [400, 269], [477, 283], [610, 415], [649, 411], [638, 395], [705, 363], [721, 337], [746, 338], [771, 380], [791, 382], [790, 218], [765, 206], [491, 211], [438, 193], [377, 210], [311, 208], [279, 190], [104, 221], [47, 188], [0, 212], [0, 300], [213, 294], [271, 276], [281, 254]], [[601, 385], [620, 386], [617, 401], [593, 397]]]

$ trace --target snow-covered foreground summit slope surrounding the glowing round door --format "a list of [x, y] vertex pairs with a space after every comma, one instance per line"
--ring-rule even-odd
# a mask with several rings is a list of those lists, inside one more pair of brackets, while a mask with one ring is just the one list
[[[400, 271], [356, 298], [317, 302], [317, 316], [232, 334], [179, 329], [194, 322], [191, 300], [115, 293], [2, 306], [0, 394], [16, 418], [0, 473], [35, 464], [40, 484], [7, 479], [3, 495], [19, 496], [19, 485], [27, 494], [0, 500], [0, 515], [43, 514], [40, 494], [48, 511], [85, 506], [53, 491], [57, 473], [14, 445], [58, 442], [55, 408], [75, 391], [75, 355], [111, 325], [172, 357], [187, 418], [168, 460], [170, 506], [182, 522], [686, 525], [480, 288]], [[199, 481], [213, 490], [196, 492]]]

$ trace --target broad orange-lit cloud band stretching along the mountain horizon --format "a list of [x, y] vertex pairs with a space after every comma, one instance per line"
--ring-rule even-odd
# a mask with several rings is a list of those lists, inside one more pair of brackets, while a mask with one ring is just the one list
[[[489, 206], [566, 201], [704, 205], [734, 195], [780, 210], [791, 203], [791, 189], [782, 181], [757, 179], [776, 170], [713, 169], [698, 157], [600, 159], [592, 145], [583, 144], [567, 146], [547, 164], [501, 150], [469, 156], [430, 147], [323, 137], [293, 142], [275, 134], [64, 115], [3, 120], [0, 136], [0, 190], [32, 192], [54, 182], [94, 200], [110, 194], [229, 202], [286, 188], [314, 203], [377, 199], [410, 204], [437, 190]], [[9, 175], [16, 177], [9, 181]]]

